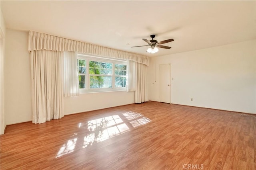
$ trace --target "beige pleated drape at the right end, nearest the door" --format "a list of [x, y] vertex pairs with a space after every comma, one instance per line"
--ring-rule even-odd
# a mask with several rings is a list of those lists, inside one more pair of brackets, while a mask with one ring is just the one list
[[136, 86], [135, 86], [135, 103], [148, 101], [148, 77], [147, 66], [135, 63]]

